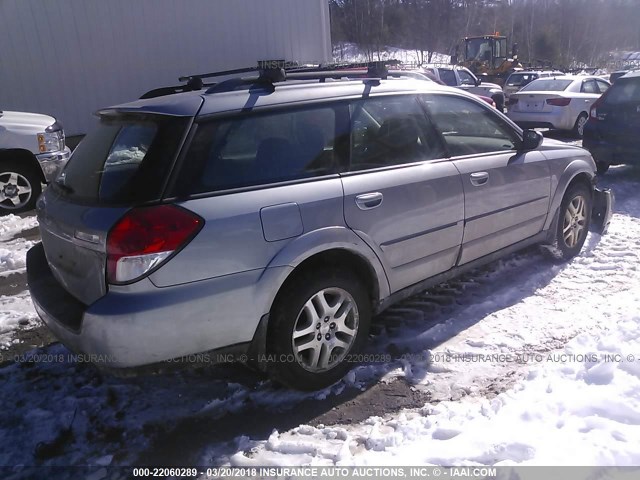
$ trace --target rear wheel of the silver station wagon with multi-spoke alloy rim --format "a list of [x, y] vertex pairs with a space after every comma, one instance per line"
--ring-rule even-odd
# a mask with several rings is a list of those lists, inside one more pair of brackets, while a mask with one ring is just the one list
[[349, 271], [321, 269], [298, 276], [272, 310], [268, 371], [277, 382], [319, 390], [354, 366], [367, 338], [371, 300]]

